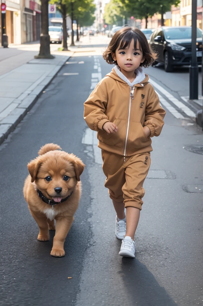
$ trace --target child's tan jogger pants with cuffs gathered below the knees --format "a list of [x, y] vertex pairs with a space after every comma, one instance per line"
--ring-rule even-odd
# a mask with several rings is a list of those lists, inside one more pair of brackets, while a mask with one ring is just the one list
[[125, 207], [142, 209], [142, 187], [151, 163], [150, 152], [129, 157], [101, 150], [103, 171], [106, 176], [105, 187], [109, 196], [117, 202], [124, 202]]

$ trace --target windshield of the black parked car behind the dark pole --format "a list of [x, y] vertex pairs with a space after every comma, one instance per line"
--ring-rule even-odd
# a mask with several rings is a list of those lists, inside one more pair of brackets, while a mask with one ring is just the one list
[[[170, 28], [164, 29], [166, 39], [190, 39], [192, 38], [192, 28]], [[202, 37], [202, 32], [197, 28], [197, 38]]]

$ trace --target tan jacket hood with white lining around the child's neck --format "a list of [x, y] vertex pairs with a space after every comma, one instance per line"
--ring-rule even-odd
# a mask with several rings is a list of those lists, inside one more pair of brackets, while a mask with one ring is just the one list
[[119, 81], [124, 84], [128, 84], [129, 86], [144, 86], [149, 81], [149, 76], [143, 72], [143, 69], [141, 67], [138, 67], [135, 69], [136, 78], [131, 83], [126, 76], [120, 71], [120, 67], [117, 65], [115, 66], [110, 73], [108, 73], [106, 76], [112, 77], [114, 80]]

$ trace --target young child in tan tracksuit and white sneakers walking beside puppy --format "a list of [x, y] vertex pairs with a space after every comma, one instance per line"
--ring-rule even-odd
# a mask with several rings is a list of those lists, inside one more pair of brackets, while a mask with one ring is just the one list
[[116, 66], [84, 103], [84, 119], [90, 129], [98, 131], [105, 187], [117, 214], [116, 237], [122, 240], [119, 255], [135, 257], [151, 137], [160, 135], [165, 116], [149, 76], [141, 68], [149, 67], [156, 54], [140, 30], [124, 27], [113, 35], [103, 58]]

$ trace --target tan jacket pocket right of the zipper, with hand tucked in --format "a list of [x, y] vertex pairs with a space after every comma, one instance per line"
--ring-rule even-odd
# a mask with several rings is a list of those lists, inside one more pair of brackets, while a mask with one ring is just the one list
[[151, 144], [151, 140], [146, 136], [142, 124], [140, 122], [131, 121], [128, 149], [142, 148], [149, 144]]

